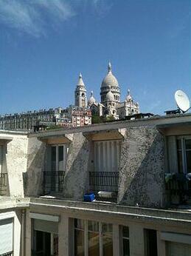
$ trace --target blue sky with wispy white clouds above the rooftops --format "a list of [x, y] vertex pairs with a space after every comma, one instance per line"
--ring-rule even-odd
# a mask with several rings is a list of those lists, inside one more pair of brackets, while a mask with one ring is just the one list
[[190, 0], [0, 0], [0, 113], [74, 104], [78, 74], [100, 100], [108, 60], [142, 112], [191, 98]]

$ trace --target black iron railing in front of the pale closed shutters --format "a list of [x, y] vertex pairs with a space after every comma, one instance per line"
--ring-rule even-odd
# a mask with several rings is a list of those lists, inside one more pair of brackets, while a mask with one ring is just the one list
[[89, 186], [94, 191], [118, 191], [119, 172], [89, 172]]

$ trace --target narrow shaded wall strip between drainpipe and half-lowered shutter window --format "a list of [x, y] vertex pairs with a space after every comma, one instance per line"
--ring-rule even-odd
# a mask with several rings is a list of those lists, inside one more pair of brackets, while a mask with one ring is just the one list
[[31, 218], [29, 218], [29, 210], [26, 211], [26, 229], [25, 229], [25, 255], [30, 256], [31, 255], [31, 249], [32, 249], [32, 225], [31, 225]]

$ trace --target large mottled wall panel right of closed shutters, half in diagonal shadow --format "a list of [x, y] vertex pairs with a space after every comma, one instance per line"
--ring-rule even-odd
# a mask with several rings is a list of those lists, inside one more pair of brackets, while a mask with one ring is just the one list
[[118, 203], [160, 207], [164, 193], [164, 138], [155, 127], [126, 129]]

